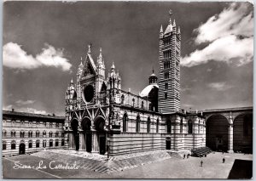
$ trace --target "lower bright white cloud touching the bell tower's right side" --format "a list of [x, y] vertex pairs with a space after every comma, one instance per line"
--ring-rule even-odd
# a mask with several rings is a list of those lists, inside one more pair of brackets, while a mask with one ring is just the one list
[[239, 39], [236, 36], [222, 37], [206, 48], [195, 50], [182, 60], [183, 66], [195, 66], [210, 60], [224, 61], [228, 64], [244, 65], [253, 60], [253, 37]]

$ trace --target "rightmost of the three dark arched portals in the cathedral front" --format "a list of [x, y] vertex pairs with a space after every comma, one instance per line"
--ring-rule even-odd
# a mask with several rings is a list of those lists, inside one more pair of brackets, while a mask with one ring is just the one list
[[96, 118], [95, 127], [98, 136], [99, 152], [101, 155], [106, 153], [106, 132], [104, 130], [105, 119], [102, 116]]

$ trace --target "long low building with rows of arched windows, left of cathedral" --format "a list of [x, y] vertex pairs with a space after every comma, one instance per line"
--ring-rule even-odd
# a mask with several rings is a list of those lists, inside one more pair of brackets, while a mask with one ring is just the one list
[[64, 147], [64, 117], [3, 110], [3, 156]]

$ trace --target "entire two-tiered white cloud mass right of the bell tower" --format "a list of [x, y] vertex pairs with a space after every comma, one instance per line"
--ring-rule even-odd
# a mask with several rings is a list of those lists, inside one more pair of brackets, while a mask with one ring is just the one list
[[195, 31], [195, 44], [208, 44], [183, 57], [181, 65], [191, 67], [216, 60], [240, 66], [253, 61], [253, 11], [248, 3], [231, 3]]

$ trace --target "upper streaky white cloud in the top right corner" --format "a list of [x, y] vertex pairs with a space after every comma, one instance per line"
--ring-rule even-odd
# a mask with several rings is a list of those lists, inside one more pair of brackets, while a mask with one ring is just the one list
[[195, 42], [212, 42], [230, 35], [253, 36], [253, 11], [248, 5], [249, 3], [231, 3], [220, 14], [209, 18], [195, 29], [198, 32]]

